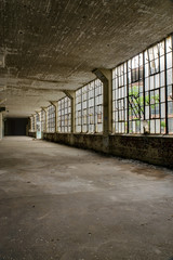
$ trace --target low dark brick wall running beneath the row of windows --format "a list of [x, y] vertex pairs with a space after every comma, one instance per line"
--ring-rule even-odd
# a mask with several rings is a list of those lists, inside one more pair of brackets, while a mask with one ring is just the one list
[[44, 133], [44, 140], [173, 168], [172, 136]]

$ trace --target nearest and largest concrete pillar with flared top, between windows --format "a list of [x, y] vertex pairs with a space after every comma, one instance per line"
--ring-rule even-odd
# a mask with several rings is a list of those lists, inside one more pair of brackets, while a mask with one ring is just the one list
[[104, 110], [104, 120], [103, 120], [103, 134], [109, 135], [112, 130], [112, 76], [110, 69], [96, 68], [93, 70], [96, 77], [103, 82], [103, 110]]

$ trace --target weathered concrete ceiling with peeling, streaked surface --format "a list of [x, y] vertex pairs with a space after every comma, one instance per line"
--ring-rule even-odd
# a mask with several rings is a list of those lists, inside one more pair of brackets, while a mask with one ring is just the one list
[[29, 116], [172, 31], [172, 0], [0, 0], [0, 101]]

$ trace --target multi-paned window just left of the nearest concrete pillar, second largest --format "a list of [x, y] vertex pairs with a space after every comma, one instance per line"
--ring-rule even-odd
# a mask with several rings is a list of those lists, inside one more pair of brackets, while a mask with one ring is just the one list
[[99, 79], [76, 91], [76, 131], [103, 131], [103, 83]]

